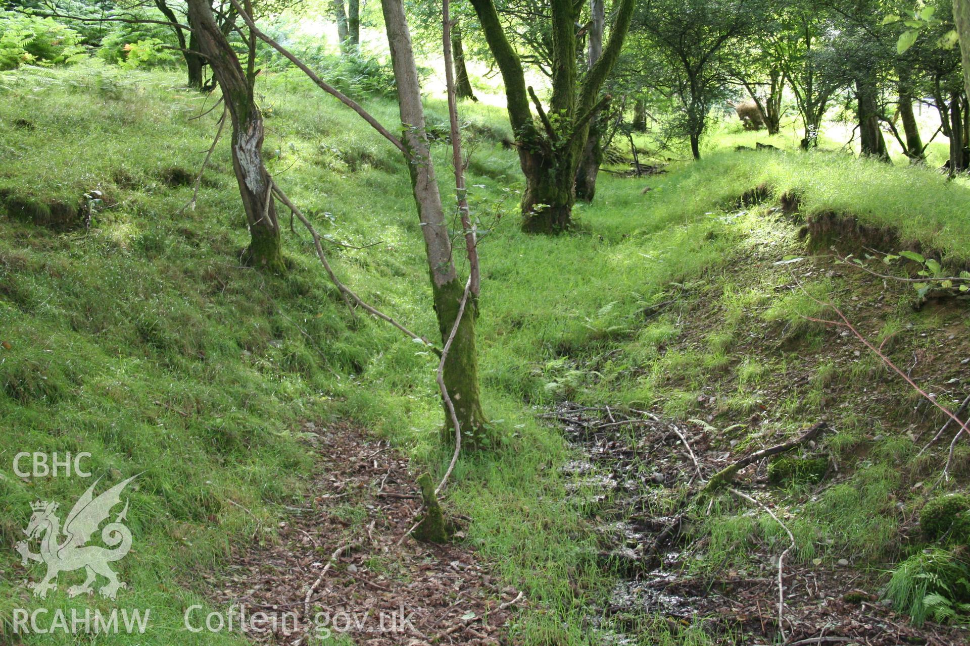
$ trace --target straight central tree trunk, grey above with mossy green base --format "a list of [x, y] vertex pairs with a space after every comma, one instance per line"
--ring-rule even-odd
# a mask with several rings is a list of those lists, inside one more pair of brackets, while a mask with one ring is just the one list
[[[394, 77], [398, 85], [401, 122], [407, 124], [402, 138], [410, 152], [407, 168], [410, 170], [411, 189], [425, 240], [438, 330], [442, 341], [446, 341], [458, 317], [465, 285], [459, 280], [452, 260], [451, 240], [448, 236], [428, 135], [425, 131], [421, 87], [414, 64], [414, 52], [404, 15], [404, 5], [402, 0], [381, 0], [380, 4], [387, 30], [387, 42], [391, 49]], [[488, 422], [482, 411], [478, 388], [478, 353], [475, 348], [477, 318], [477, 296], [469, 294], [465, 314], [462, 316], [451, 350], [445, 359], [444, 384], [462, 428], [463, 446], [487, 447], [493, 444], [493, 439], [488, 434]], [[452, 422], [447, 411], [445, 411], [445, 419], [444, 434], [451, 438], [454, 429], [451, 428]]]

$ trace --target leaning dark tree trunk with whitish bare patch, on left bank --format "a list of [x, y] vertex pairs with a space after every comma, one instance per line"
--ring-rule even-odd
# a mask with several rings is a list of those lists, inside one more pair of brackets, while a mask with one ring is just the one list
[[209, 60], [212, 75], [222, 90], [232, 119], [233, 169], [236, 171], [250, 236], [243, 260], [250, 266], [281, 273], [286, 270], [286, 265], [279, 245], [279, 223], [270, 193], [272, 180], [261, 156], [263, 117], [253, 99], [252, 85], [242, 70], [236, 52], [215, 23], [210, 0], [188, 0], [188, 12], [193, 35]]

